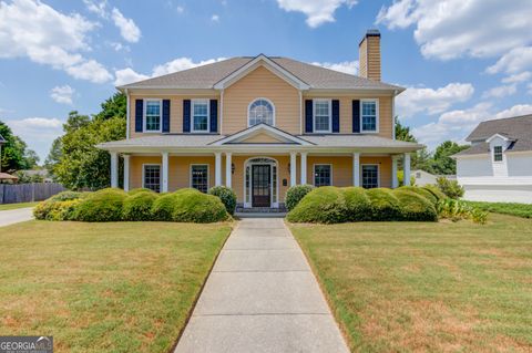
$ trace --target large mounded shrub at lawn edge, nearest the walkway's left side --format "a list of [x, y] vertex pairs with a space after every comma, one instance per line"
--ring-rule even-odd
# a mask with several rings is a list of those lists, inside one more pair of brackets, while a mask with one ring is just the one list
[[218, 197], [196, 189], [182, 189], [173, 203], [174, 221], [209, 224], [227, 219], [227, 211]]

